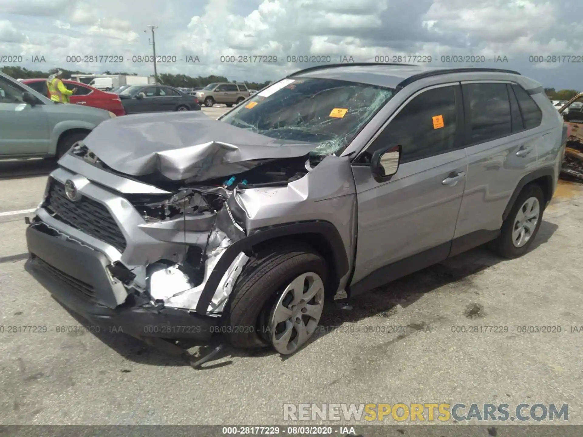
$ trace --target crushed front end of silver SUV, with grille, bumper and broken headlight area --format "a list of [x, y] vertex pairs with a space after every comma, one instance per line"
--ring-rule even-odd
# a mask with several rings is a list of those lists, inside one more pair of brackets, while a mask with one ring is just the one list
[[[287, 161], [295, 165], [153, 185], [111, 170], [77, 146], [51, 173], [27, 228], [27, 270], [96, 325], [141, 339], [209, 339], [249, 259], [240, 252], [216, 267], [246, 237], [233, 192], [307, 172], [297, 172], [303, 159]], [[208, 298], [201, 299], [205, 288]]]

